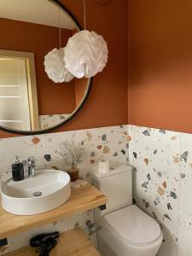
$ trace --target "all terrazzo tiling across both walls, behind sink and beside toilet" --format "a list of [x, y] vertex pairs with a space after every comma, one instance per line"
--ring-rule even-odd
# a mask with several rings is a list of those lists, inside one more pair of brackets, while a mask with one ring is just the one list
[[[133, 197], [138, 207], [159, 223], [164, 241], [158, 256], [192, 255], [192, 134], [154, 128], [122, 125], [81, 131], [67, 131], [34, 137], [0, 140], [0, 177], [11, 177], [15, 155], [20, 160], [34, 156], [36, 166], [67, 170], [58, 154], [59, 144], [75, 138], [87, 155], [79, 166], [80, 175], [90, 179], [101, 158], [111, 165], [128, 162], [133, 171]], [[86, 220], [94, 221], [93, 212], [84, 212], [54, 224], [31, 230], [9, 239], [0, 247], [0, 255], [28, 244], [39, 232], [65, 231]], [[91, 238], [96, 244], [96, 236]]]

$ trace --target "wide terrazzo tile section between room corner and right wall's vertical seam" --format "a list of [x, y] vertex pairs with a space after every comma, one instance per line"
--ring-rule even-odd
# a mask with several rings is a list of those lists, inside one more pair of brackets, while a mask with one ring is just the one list
[[133, 197], [161, 225], [164, 242], [158, 256], [177, 255], [180, 134], [129, 126]]

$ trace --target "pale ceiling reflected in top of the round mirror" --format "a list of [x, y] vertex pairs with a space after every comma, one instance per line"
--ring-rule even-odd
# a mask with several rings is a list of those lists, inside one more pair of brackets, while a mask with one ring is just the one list
[[70, 16], [49, 0], [0, 0], [0, 17], [74, 29]]

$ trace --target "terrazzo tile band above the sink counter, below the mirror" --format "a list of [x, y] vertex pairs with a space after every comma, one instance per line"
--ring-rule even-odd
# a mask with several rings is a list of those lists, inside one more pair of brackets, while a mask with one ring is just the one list
[[[1, 139], [1, 180], [5, 181], [11, 177], [11, 164], [15, 161], [15, 155], [18, 155], [20, 160], [34, 156], [39, 168], [67, 170], [67, 166], [61, 163], [58, 151], [61, 142], [72, 139], [80, 143], [86, 152], [84, 162], [79, 165], [83, 177], [89, 176], [88, 172], [96, 168], [97, 161], [101, 158], [110, 160], [111, 165], [125, 163], [128, 158], [127, 130], [127, 125], [121, 125]], [[49, 155], [49, 160], [45, 155]]]

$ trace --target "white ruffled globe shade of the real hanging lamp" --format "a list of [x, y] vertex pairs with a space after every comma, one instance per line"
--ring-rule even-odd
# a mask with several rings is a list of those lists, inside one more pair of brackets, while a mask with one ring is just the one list
[[108, 62], [108, 46], [96, 32], [83, 30], [68, 39], [64, 60], [70, 73], [78, 79], [90, 78]]

